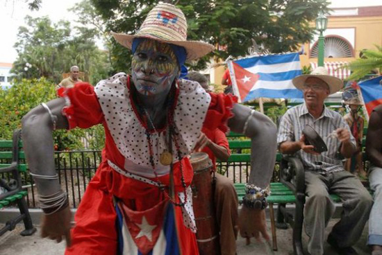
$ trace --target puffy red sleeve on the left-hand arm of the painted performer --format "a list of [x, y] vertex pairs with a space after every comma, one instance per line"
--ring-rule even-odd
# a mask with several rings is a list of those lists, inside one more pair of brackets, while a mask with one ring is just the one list
[[102, 123], [103, 113], [99, 105], [94, 87], [87, 82], [79, 82], [73, 88], [66, 89], [63, 97], [67, 106], [63, 115], [69, 121], [69, 130], [73, 128], [90, 128]]

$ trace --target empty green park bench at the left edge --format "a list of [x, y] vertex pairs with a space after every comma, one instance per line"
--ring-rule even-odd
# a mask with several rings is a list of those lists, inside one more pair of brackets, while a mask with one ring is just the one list
[[26, 172], [26, 164], [20, 164], [20, 159], [24, 159], [22, 141], [20, 141], [21, 130], [13, 133], [13, 140], [0, 141], [0, 213], [5, 206], [17, 204], [20, 214], [8, 220], [4, 227], [0, 229], [0, 236], [6, 231], [12, 231], [18, 222], [24, 221], [24, 231], [22, 236], [31, 236], [36, 229], [33, 227], [28, 206], [25, 201], [27, 191], [22, 188], [22, 178], [20, 172]]

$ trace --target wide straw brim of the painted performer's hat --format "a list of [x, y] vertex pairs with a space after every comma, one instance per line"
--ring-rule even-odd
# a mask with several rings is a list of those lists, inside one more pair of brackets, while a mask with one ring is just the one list
[[178, 46], [182, 46], [185, 48], [187, 52], [186, 60], [197, 60], [198, 58], [207, 55], [215, 48], [212, 44], [207, 44], [205, 42], [197, 42], [197, 41], [169, 41], [165, 39], [161, 39], [158, 37], [154, 37], [151, 35], [126, 35], [124, 33], [114, 33], [111, 32], [115, 40], [121, 44], [122, 46], [131, 49], [131, 45], [133, 44], [134, 38], [147, 38], [147, 39], [155, 39], [159, 42], [165, 42], [167, 44], [174, 44]]

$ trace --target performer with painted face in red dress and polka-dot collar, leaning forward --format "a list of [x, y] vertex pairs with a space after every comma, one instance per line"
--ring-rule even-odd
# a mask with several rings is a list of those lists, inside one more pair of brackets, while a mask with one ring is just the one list
[[[76, 84], [63, 98], [23, 118], [24, 149], [44, 211], [42, 236], [58, 242], [65, 237], [66, 254], [199, 254], [188, 155], [202, 128], [226, 132], [228, 121], [231, 130], [251, 137], [253, 144], [249, 193], [258, 196], [245, 201], [240, 230], [269, 239], [263, 193], [274, 168], [274, 123], [235, 104], [232, 96], [207, 94], [197, 82], [179, 78], [185, 60], [213, 50], [210, 44], [187, 41], [187, 21], [179, 8], [159, 3], [137, 34], [112, 35], [133, 52], [131, 76], [117, 73], [95, 88]], [[106, 134], [103, 161], [71, 232], [51, 133], [97, 124]]]

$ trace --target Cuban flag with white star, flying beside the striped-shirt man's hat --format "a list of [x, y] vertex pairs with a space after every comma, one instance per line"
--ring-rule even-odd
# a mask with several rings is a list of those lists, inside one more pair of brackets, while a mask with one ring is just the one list
[[240, 102], [255, 98], [303, 98], [292, 84], [301, 75], [299, 53], [262, 55], [227, 62]]

